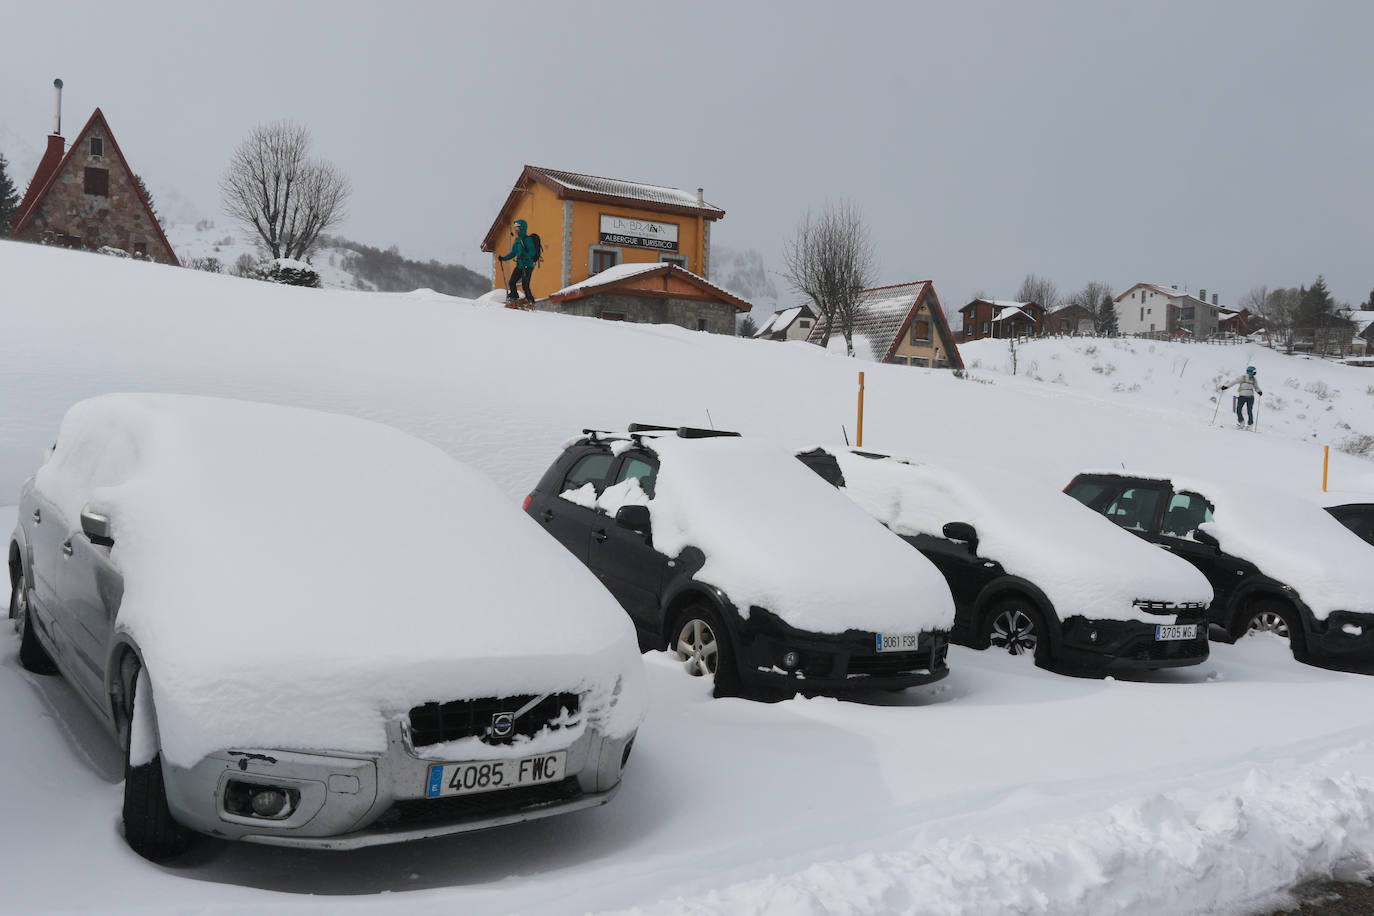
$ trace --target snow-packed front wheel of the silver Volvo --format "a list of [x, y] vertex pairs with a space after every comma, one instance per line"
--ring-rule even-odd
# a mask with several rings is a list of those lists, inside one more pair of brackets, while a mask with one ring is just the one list
[[[140, 733], [143, 728], [157, 728], [151, 709], [144, 711], [139, 707], [140, 673], [137, 656], [125, 655], [120, 663], [117, 698], [120, 740], [124, 744], [124, 840], [143, 858], [162, 862], [190, 849], [191, 831], [177, 824], [168, 808], [162, 754], [155, 753], [151, 759], [135, 762], [140, 744], [157, 742], [155, 735]], [[147, 683], [147, 678], [143, 680]]]

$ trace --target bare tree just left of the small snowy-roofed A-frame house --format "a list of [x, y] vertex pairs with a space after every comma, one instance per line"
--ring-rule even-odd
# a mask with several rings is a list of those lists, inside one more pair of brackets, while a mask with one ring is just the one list
[[797, 236], [783, 250], [783, 276], [808, 297], [826, 323], [820, 346], [840, 327], [845, 349], [855, 354], [855, 309], [872, 286], [874, 253], [859, 209], [848, 202], [827, 205], [819, 217], [807, 213]]

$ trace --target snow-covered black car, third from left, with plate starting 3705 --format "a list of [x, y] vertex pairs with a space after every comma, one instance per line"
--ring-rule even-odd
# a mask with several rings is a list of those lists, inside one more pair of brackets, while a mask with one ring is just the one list
[[1208, 658], [1206, 578], [1062, 493], [861, 449], [797, 457], [944, 573], [962, 645], [1094, 673]]

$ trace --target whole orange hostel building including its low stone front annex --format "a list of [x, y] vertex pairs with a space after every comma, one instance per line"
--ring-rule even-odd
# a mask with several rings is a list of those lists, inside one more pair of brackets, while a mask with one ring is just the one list
[[525, 166], [482, 251], [492, 254], [492, 287], [504, 288], [514, 261], [499, 258], [523, 220], [543, 247], [534, 309], [732, 335], [753, 306], [709, 280], [710, 227], [724, 216], [699, 188]]

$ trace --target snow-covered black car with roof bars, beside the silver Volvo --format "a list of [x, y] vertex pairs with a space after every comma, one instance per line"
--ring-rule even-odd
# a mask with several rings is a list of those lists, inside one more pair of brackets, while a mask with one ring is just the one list
[[954, 603], [834, 488], [735, 433], [585, 430], [525, 511], [614, 595], [644, 650], [716, 695], [903, 689], [948, 674]]

